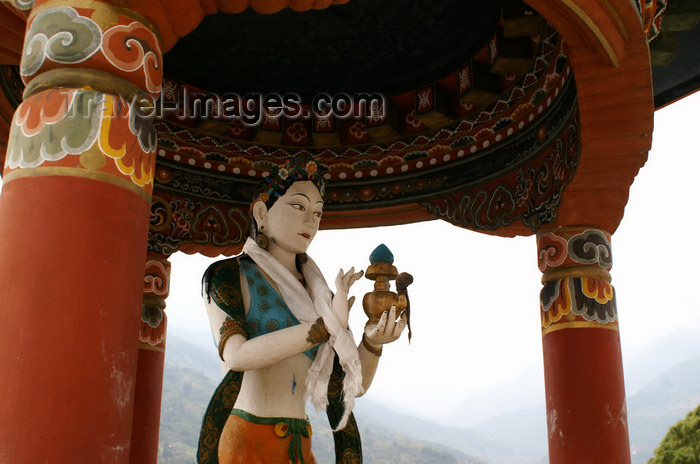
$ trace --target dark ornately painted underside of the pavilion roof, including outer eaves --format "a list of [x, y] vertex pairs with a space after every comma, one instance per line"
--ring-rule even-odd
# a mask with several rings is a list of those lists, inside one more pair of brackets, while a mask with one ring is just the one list
[[[437, 217], [517, 235], [556, 217], [578, 167], [580, 96], [569, 44], [536, 10], [520, 0], [352, 0], [261, 14], [273, 11], [253, 3], [193, 10], [176, 18], [182, 31], [164, 36], [152, 220], [160, 252], [238, 243], [253, 190], [290, 156], [325, 168], [326, 228]], [[638, 5], [655, 37], [657, 106], [700, 86], [700, 15], [686, 4]], [[24, 17], [0, 6], [7, 118], [23, 91]], [[358, 92], [382, 96], [381, 116], [309, 111], [321, 93]], [[298, 95], [306, 117], [257, 108], [260, 121], [247, 124], [183, 110], [251, 93]]]

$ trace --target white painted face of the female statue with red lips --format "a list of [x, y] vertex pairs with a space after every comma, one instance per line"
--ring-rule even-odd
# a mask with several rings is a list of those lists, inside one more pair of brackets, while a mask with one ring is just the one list
[[[318, 232], [323, 198], [310, 181], [294, 182], [258, 221], [273, 246], [289, 253], [305, 253]], [[258, 218], [256, 217], [256, 220]]]

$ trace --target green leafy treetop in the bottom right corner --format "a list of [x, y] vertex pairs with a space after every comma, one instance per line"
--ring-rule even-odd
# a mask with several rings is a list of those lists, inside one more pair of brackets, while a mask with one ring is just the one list
[[669, 429], [649, 464], [700, 464], [700, 406]]

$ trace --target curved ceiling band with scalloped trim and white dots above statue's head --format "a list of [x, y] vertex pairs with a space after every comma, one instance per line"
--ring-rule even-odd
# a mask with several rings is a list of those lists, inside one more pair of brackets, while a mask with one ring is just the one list
[[[462, 156], [479, 156], [479, 152], [505, 141], [549, 111], [571, 77], [560, 36], [549, 24], [544, 30], [531, 69], [506, 98], [437, 131], [371, 145], [289, 149], [201, 135], [170, 120], [160, 120], [156, 123], [159, 155], [215, 172], [262, 178], [272, 165], [303, 151], [328, 168], [327, 178], [338, 181], [379, 179], [426, 166], [439, 167]], [[177, 101], [180, 85], [184, 84], [166, 79], [164, 98]]]

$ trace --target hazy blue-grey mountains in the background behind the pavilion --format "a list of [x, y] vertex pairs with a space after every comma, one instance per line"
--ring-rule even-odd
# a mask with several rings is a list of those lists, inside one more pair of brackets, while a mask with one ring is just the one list
[[[185, 338], [189, 339], [186, 340]], [[205, 348], [205, 343], [211, 345]], [[700, 333], [680, 331], [658, 341], [625, 366], [633, 464], [643, 464], [668, 428], [700, 404]], [[171, 331], [164, 378], [159, 462], [195, 462], [202, 413], [223, 372], [210, 339]], [[367, 464], [546, 464], [544, 398], [537, 372], [525, 372], [491, 394], [465, 398], [443, 423], [360, 398], [355, 415]], [[460, 426], [475, 401], [481, 408], [509, 395], [513, 409], [472, 426]], [[631, 392], [634, 392], [631, 394]], [[520, 408], [517, 408], [520, 405]], [[464, 416], [463, 416], [464, 417]], [[334, 462], [327, 421], [312, 414], [314, 454]], [[469, 421], [465, 420], [464, 424]]]

